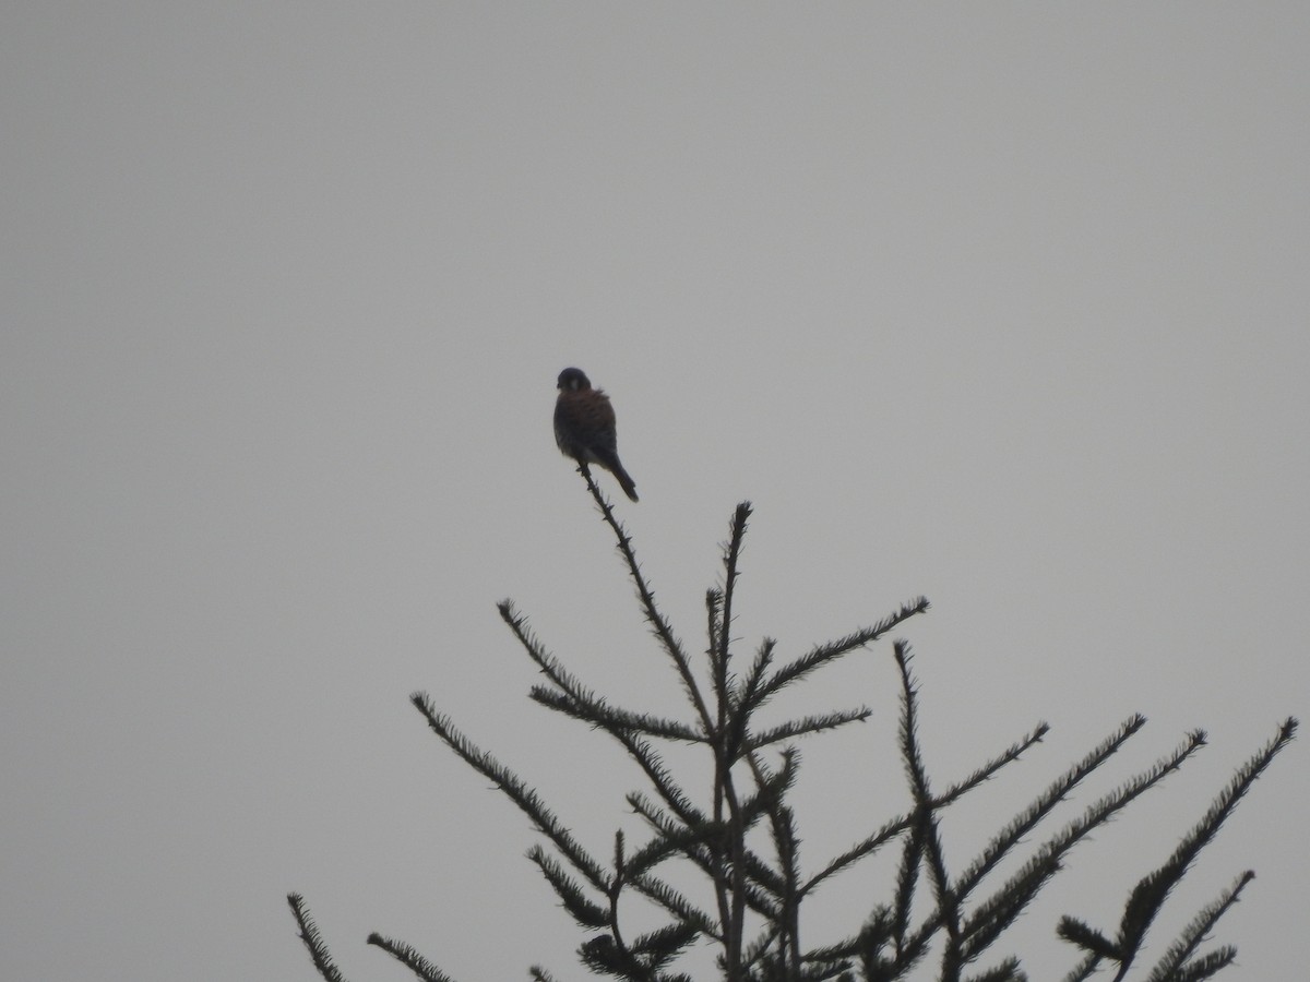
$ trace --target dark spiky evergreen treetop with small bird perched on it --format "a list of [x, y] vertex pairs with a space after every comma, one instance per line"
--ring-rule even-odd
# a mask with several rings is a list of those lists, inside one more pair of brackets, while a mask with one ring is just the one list
[[[582, 962], [593, 973], [626, 982], [683, 982], [689, 975], [677, 962], [693, 943], [709, 940], [717, 949], [718, 973], [726, 982], [889, 982], [935, 958], [942, 982], [1003, 982], [1026, 979], [1015, 956], [994, 956], [1002, 934], [1062, 868], [1074, 846], [1116, 817], [1148, 790], [1163, 782], [1204, 744], [1205, 733], [1186, 735], [1182, 744], [1145, 771], [1124, 780], [1114, 792], [1093, 803], [1061, 829], [1048, 826], [1052, 810], [1089, 775], [1103, 767], [1146, 720], [1134, 715], [1119, 724], [1100, 744], [1055, 778], [1049, 786], [998, 829], [963, 869], [947, 868], [941, 816], [1001, 769], [1019, 759], [1048, 732], [1039, 723], [1011, 746], [981, 763], [963, 780], [937, 790], [929, 779], [918, 741], [918, 690], [909, 646], [891, 646], [900, 680], [900, 732], [897, 752], [904, 765], [912, 807], [892, 816], [855, 845], [828, 858], [817, 869], [803, 869], [799, 831], [789, 793], [800, 766], [795, 741], [866, 719], [867, 707], [760, 723], [761, 707], [785, 689], [799, 685], [844, 656], [884, 639], [900, 625], [924, 614], [927, 600], [904, 604], [875, 625], [820, 644], [782, 664], [776, 644], [765, 639], [743, 664], [730, 638], [749, 503], [738, 505], [723, 549], [723, 585], [706, 593], [706, 664], [697, 669], [642, 575], [633, 542], [592, 481], [580, 473], [604, 521], [614, 536], [660, 653], [676, 672], [686, 699], [685, 718], [663, 718], [613, 704], [583, 682], [537, 640], [527, 618], [510, 601], [500, 617], [524, 652], [545, 676], [532, 689], [540, 704], [562, 712], [617, 741], [637, 766], [645, 790], [627, 795], [627, 804], [646, 822], [647, 837], [629, 843], [616, 833], [612, 855], [601, 860], [557, 818], [537, 792], [490, 753], [474, 746], [424, 693], [411, 702], [428, 727], [470, 767], [503, 791], [545, 837], [549, 848], [536, 845], [536, 863], [565, 909], [584, 932]], [[1098, 930], [1074, 917], [1064, 917], [1057, 934], [1078, 951], [1066, 982], [1090, 978], [1112, 968], [1117, 981], [1144, 958], [1148, 928], [1182, 881], [1197, 854], [1209, 845], [1251, 783], [1293, 738], [1297, 720], [1285, 720], [1275, 736], [1216, 795], [1205, 814], [1183, 835], [1165, 862], [1142, 877], [1128, 894], [1120, 923]], [[662, 755], [662, 748], [681, 744], [709, 755], [710, 787], [697, 793], [680, 780]], [[1024, 839], [1041, 830], [1041, 842], [1028, 847], [1018, 871], [1001, 877], [1002, 860], [1024, 855]], [[883, 851], [899, 855], [887, 897], [845, 937], [823, 947], [802, 939], [800, 907], [825, 882]], [[703, 884], [703, 898], [675, 888], [669, 872], [690, 869]], [[1204, 905], [1180, 935], [1137, 977], [1148, 982], [1195, 982], [1214, 975], [1237, 956], [1231, 945], [1203, 951], [1203, 943], [1224, 913], [1237, 902], [1254, 877], [1250, 871]], [[620, 897], [645, 898], [663, 926], [633, 936], [620, 917]], [[288, 897], [318, 973], [329, 982], [342, 975], [309, 915], [304, 898]], [[424, 982], [451, 982], [434, 964], [407, 944], [372, 934], [368, 943], [389, 952]], [[532, 978], [553, 982], [544, 968]]]

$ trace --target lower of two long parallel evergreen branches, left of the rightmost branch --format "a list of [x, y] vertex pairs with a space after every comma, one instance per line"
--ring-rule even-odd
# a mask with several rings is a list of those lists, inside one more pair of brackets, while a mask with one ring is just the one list
[[[1129, 719], [1125, 727], [1132, 721]], [[964, 934], [969, 937], [965, 955], [981, 952], [992, 944], [1027, 907], [1047, 881], [1060, 871], [1064, 856], [1078, 842], [1127, 808], [1131, 801], [1175, 773], [1203, 745], [1204, 735], [1191, 733], [1170, 757], [1157, 761], [1142, 774], [1095, 801], [1081, 818], [1043, 845], [1018, 873], [980, 903], [965, 920]]]

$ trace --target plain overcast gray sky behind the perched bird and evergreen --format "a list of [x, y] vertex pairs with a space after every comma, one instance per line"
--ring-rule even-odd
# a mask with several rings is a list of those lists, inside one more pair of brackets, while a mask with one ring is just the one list
[[[0, 977], [310, 979], [288, 890], [356, 982], [407, 977], [372, 930], [582, 974], [406, 703], [633, 827], [494, 606], [677, 710], [552, 439], [571, 364], [693, 649], [749, 498], [744, 649], [925, 593], [938, 780], [1053, 724], [959, 864], [1128, 714], [1119, 778], [1209, 729], [1000, 945], [1057, 977], [1056, 918], [1116, 924], [1310, 706], [1307, 65], [1303, 3], [7, 4]], [[806, 699], [875, 710], [803, 748], [814, 868], [904, 800], [889, 646]], [[1302, 741], [1157, 949], [1252, 867], [1225, 978], [1298, 978], [1307, 805]]]

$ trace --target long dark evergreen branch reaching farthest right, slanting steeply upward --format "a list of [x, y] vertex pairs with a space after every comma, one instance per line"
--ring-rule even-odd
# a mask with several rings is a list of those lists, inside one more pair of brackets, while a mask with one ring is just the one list
[[1187, 875], [1188, 868], [1195, 862], [1205, 846], [1218, 834], [1220, 826], [1237, 808], [1238, 801], [1246, 795], [1260, 776], [1260, 773], [1273, 761], [1273, 757], [1296, 736], [1297, 721], [1288, 719], [1279, 728], [1279, 733], [1256, 753], [1250, 761], [1238, 769], [1227, 787], [1207, 809], [1200, 822], [1183, 838], [1174, 854], [1166, 863], [1151, 873], [1148, 873], [1133, 888], [1124, 906], [1124, 917], [1119, 926], [1119, 945], [1123, 949], [1124, 960], [1120, 966], [1119, 978], [1123, 978], [1128, 966], [1132, 965], [1146, 939], [1155, 917], [1165, 906], [1170, 892]]

